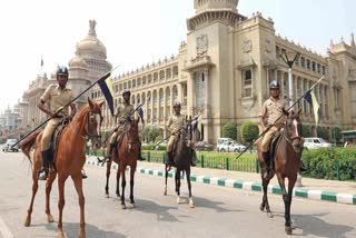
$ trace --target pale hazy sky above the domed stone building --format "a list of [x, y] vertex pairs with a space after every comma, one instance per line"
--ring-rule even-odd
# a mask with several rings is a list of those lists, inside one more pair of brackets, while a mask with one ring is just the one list
[[[271, 17], [277, 34], [323, 56], [332, 39], [348, 43], [356, 33], [354, 0], [239, 0], [237, 9], [246, 17], [256, 11]], [[90, 19], [119, 75], [176, 56], [194, 14], [194, 0], [1, 1], [0, 113], [13, 108], [38, 73], [68, 66]]]

